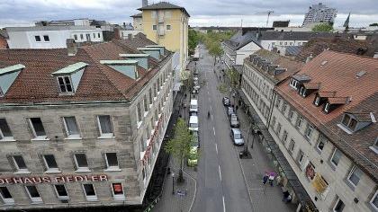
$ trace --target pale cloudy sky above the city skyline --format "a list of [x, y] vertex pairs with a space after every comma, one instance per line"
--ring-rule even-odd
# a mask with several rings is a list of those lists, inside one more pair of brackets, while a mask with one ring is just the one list
[[[155, 3], [158, 1], [155, 0]], [[290, 20], [301, 25], [304, 13], [313, 0], [171, 0], [184, 6], [191, 14], [191, 26], [266, 26], [266, 12], [270, 18]], [[337, 8], [335, 26], [341, 26], [351, 13], [350, 25], [367, 26], [378, 22], [378, 0], [323, 0], [323, 4]], [[149, 0], [148, 4], [153, 1]], [[138, 13], [141, 0], [0, 0], [0, 27], [30, 25], [40, 20], [90, 18], [112, 23], [131, 22], [130, 15]]]

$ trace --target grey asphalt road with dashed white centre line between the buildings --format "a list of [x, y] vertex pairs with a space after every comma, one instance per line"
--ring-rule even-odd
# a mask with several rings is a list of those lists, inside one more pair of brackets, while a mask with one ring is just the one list
[[203, 57], [197, 61], [197, 69], [200, 82], [204, 81], [198, 95], [201, 150], [192, 211], [252, 211], [238, 163], [242, 147], [233, 146], [229, 137], [229, 119], [221, 102], [223, 94], [217, 89], [219, 76], [212, 71], [213, 57], [205, 49], [200, 53]]

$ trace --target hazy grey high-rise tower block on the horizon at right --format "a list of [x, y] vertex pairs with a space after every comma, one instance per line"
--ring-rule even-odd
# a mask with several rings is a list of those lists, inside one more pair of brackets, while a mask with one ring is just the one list
[[329, 8], [324, 4], [313, 4], [310, 6], [309, 13], [304, 16], [302, 26], [311, 26], [313, 23], [328, 22], [333, 25], [338, 11], [335, 8]]

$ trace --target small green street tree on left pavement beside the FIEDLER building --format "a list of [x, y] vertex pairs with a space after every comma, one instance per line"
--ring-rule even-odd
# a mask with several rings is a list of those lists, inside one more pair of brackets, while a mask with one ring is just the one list
[[184, 159], [190, 155], [192, 146], [192, 135], [184, 119], [178, 119], [175, 124], [175, 136], [165, 146], [168, 154], [173, 155], [180, 162], [180, 171], [177, 181], [184, 181], [183, 166]]

